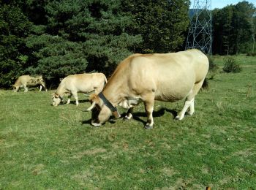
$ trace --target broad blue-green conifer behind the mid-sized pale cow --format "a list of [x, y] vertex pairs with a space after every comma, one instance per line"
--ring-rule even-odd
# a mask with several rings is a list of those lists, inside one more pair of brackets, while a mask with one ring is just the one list
[[81, 72], [110, 75], [141, 42], [139, 35], [127, 33], [131, 19], [117, 0], [50, 1], [45, 12], [47, 26], [35, 26], [26, 42], [29, 72], [40, 72], [48, 80]]

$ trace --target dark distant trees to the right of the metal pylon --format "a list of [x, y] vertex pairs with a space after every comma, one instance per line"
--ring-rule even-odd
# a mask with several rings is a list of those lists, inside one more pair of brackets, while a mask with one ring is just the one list
[[252, 50], [255, 6], [247, 1], [213, 11], [213, 53], [236, 54]]

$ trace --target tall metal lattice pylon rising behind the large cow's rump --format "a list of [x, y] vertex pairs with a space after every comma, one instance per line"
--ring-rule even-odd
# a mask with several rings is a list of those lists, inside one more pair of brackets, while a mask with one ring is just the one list
[[189, 18], [186, 50], [197, 48], [211, 55], [211, 0], [195, 0]]

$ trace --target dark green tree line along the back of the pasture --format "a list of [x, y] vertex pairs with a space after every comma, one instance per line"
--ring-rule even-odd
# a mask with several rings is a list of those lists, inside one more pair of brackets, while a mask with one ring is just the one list
[[[47, 83], [104, 72], [132, 53], [184, 50], [189, 0], [1, 0], [0, 87], [19, 75]], [[227, 19], [228, 18], [228, 19]], [[252, 51], [255, 7], [246, 1], [213, 11], [213, 53]]]

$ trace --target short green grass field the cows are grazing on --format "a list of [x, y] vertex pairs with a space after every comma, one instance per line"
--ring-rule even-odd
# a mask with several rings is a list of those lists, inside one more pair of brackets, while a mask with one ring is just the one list
[[83, 94], [53, 107], [53, 91], [0, 90], [0, 189], [255, 189], [256, 58], [236, 59], [242, 71], [219, 69], [195, 115], [156, 102], [152, 130], [143, 104], [95, 128]]

